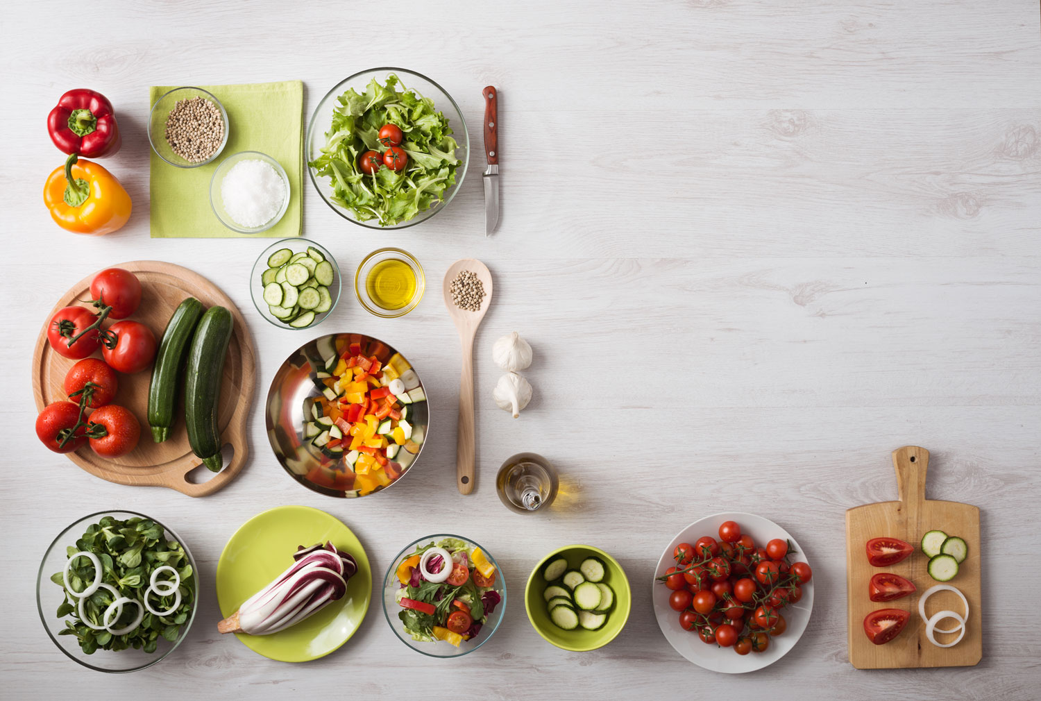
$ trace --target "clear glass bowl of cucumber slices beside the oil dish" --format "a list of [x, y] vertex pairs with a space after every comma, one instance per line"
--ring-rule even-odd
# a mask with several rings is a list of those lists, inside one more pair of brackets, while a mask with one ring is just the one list
[[339, 267], [322, 245], [283, 239], [265, 248], [250, 273], [250, 296], [260, 316], [282, 328], [310, 328], [339, 300]]

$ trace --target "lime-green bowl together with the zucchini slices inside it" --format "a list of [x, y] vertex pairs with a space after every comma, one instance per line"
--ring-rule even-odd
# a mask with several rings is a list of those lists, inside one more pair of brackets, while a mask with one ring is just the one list
[[606, 552], [568, 545], [542, 558], [525, 587], [535, 631], [563, 650], [586, 652], [613, 641], [629, 620], [626, 571]]

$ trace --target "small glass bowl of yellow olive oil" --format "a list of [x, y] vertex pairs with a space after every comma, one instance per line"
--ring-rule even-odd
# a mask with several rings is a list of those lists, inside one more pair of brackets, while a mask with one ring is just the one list
[[426, 284], [423, 266], [400, 248], [373, 251], [354, 274], [354, 293], [361, 306], [384, 319], [404, 317], [414, 309]]

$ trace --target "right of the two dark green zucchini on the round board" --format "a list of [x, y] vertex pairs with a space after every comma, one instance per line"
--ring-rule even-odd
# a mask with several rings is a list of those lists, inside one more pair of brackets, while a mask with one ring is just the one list
[[221, 377], [228, 354], [233, 321], [223, 306], [211, 306], [199, 320], [184, 377], [184, 423], [192, 452], [211, 472], [224, 467], [221, 456], [221, 428], [217, 411], [221, 402]]

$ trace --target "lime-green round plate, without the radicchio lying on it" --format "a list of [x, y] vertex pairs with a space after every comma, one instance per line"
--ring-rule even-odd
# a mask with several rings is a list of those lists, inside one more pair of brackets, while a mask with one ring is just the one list
[[227, 618], [293, 564], [297, 546], [331, 542], [358, 562], [347, 594], [314, 616], [272, 635], [235, 633], [253, 652], [283, 662], [328, 655], [361, 625], [373, 595], [369, 557], [351, 529], [309, 506], [279, 506], [258, 514], [235, 531], [217, 564], [217, 600]]

